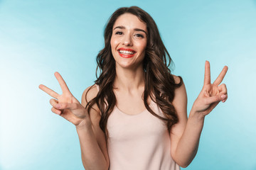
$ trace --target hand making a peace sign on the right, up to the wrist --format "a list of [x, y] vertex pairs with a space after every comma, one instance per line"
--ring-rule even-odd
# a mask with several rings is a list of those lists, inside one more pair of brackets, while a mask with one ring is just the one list
[[220, 101], [225, 102], [227, 100], [227, 88], [225, 84], [220, 84], [227, 71], [228, 67], [225, 66], [213, 84], [210, 84], [210, 63], [206, 61], [203, 89], [193, 103], [193, 111], [205, 116], [208, 115], [210, 111], [213, 111], [213, 108], [215, 108]]

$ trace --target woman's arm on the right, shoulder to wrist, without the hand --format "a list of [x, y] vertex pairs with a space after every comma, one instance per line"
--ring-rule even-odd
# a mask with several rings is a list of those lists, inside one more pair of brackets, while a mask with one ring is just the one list
[[176, 89], [173, 104], [179, 121], [171, 128], [171, 155], [179, 166], [185, 168], [196, 156], [203, 119], [197, 120], [191, 114], [187, 118], [187, 96], [184, 84]]

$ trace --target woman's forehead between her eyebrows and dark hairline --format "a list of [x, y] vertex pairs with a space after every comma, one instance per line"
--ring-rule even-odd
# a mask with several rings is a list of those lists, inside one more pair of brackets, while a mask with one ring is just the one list
[[114, 22], [113, 28], [117, 26], [124, 26], [127, 29], [139, 28], [146, 31], [146, 23], [139, 20], [137, 16], [132, 13], [124, 13]]

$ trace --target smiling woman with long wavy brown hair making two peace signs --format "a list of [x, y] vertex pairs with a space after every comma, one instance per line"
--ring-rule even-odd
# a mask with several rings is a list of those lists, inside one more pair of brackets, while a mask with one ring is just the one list
[[169, 70], [171, 57], [154, 20], [141, 8], [119, 8], [105, 28], [97, 55], [100, 77], [82, 102], [55, 77], [63, 94], [40, 85], [52, 111], [77, 129], [85, 169], [180, 169], [196, 156], [203, 120], [228, 98], [224, 67], [210, 84], [206, 61], [203, 89], [187, 118], [186, 89]]

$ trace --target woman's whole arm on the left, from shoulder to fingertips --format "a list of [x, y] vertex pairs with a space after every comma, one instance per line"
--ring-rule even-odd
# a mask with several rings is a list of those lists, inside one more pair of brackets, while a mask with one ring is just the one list
[[[55, 91], [49, 89], [44, 85], [40, 85], [39, 88], [45, 91], [47, 94], [56, 99], [50, 99], [50, 104], [53, 106], [52, 111], [73, 123], [78, 132], [80, 140], [80, 147], [82, 152], [82, 164], [86, 170], [107, 170], [110, 165], [110, 161], [107, 154], [107, 145], [104, 132], [100, 129], [100, 111], [97, 106], [92, 106], [90, 116], [85, 109], [87, 104], [85, 100], [85, 94], [89, 88], [87, 88], [82, 94], [82, 105], [71, 94], [65, 81], [58, 72], [55, 72], [55, 77], [58, 79], [63, 94], [57, 94]], [[97, 95], [97, 89], [95, 86], [87, 94], [87, 101], [90, 101]]]

